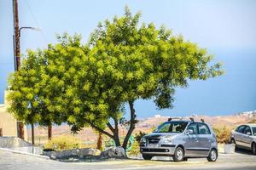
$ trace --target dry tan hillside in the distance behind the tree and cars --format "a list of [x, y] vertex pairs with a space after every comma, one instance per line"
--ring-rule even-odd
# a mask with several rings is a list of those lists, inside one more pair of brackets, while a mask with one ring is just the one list
[[[189, 120], [189, 117], [193, 117], [195, 121], [200, 121], [204, 119], [205, 122], [208, 122], [213, 127], [214, 126], [227, 126], [227, 127], [236, 127], [239, 124], [247, 123], [256, 118], [256, 111], [247, 111], [238, 113], [230, 116], [183, 116], [181, 118]], [[134, 133], [139, 131], [145, 133], [151, 133], [155, 127], [160, 125], [161, 122], [166, 122], [169, 116], [160, 116], [155, 115], [154, 117], [148, 117], [147, 119], [139, 119], [137, 127]], [[125, 136], [126, 129], [125, 127], [119, 127], [119, 135]], [[73, 135], [70, 133], [70, 127], [67, 125], [54, 126], [53, 127], [53, 137], [59, 135]], [[31, 138], [31, 131], [28, 130], [28, 136]], [[45, 127], [36, 127], [35, 128], [36, 144], [44, 144], [47, 141], [47, 128]], [[73, 135], [82, 139], [84, 143], [95, 144], [97, 139], [97, 133], [90, 127], [86, 127], [81, 130], [78, 134]]]

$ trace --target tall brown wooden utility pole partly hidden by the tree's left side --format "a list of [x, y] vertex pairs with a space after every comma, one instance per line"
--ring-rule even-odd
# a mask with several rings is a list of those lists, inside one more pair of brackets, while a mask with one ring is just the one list
[[[19, 11], [18, 0], [13, 0], [14, 10], [14, 55], [15, 55], [15, 71], [20, 69], [20, 26], [19, 26]], [[18, 137], [24, 139], [24, 123], [17, 121]]]

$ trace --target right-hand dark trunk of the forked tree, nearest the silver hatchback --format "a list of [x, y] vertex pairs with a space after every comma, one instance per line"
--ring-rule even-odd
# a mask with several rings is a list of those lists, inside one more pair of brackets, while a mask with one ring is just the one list
[[133, 130], [135, 129], [135, 118], [136, 118], [136, 115], [135, 115], [135, 110], [134, 110], [134, 105], [133, 105], [133, 102], [134, 101], [129, 101], [129, 106], [130, 106], [130, 111], [131, 111], [131, 120], [130, 120], [130, 127], [129, 127], [129, 130], [128, 132], [126, 133], [126, 136], [125, 136], [125, 140], [124, 140], [124, 143], [123, 143], [123, 148], [126, 150], [127, 148], [127, 144], [128, 144], [128, 141], [131, 137], [131, 133], [133, 132]]

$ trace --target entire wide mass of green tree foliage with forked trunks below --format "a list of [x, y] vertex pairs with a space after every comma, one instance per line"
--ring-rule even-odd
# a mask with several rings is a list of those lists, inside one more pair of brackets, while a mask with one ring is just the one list
[[[99, 23], [86, 44], [78, 35], [64, 34], [58, 37], [59, 43], [28, 53], [20, 71], [10, 77], [11, 111], [27, 120], [29, 105], [40, 99], [48, 120], [67, 122], [73, 132], [93, 127], [120, 145], [119, 125], [128, 104], [126, 148], [137, 123], [137, 99], [153, 99], [158, 109], [170, 109], [175, 88], [223, 73], [219, 63], [210, 65], [212, 55], [206, 49], [172, 35], [164, 26], [140, 23], [140, 16], [125, 8], [123, 16]], [[34, 68], [37, 60], [40, 62]], [[35, 77], [33, 81], [27, 72]], [[23, 92], [26, 86], [29, 90]], [[34, 121], [39, 122], [44, 111], [36, 111], [39, 118]]]

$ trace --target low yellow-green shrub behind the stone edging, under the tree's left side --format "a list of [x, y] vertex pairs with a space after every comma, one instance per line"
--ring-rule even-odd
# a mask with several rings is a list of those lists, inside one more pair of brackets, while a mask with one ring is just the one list
[[47, 150], [72, 150], [82, 147], [82, 140], [71, 136], [58, 136], [44, 144]]

